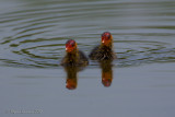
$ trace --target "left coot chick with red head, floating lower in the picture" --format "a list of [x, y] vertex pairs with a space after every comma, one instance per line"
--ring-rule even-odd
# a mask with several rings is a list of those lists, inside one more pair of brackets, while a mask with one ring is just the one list
[[78, 50], [77, 43], [73, 39], [69, 39], [66, 43], [66, 51], [61, 66], [82, 67], [89, 65], [86, 56], [81, 50]]

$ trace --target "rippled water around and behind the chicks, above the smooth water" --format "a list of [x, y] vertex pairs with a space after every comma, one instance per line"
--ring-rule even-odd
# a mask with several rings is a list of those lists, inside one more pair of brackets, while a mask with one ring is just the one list
[[[58, 68], [67, 39], [75, 39], [89, 54], [105, 31], [113, 34], [117, 67], [175, 61], [174, 1], [31, 0], [12, 4], [0, 11], [0, 66]], [[91, 61], [90, 67], [97, 62]]]

